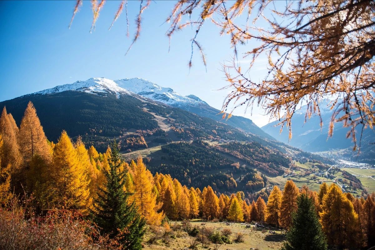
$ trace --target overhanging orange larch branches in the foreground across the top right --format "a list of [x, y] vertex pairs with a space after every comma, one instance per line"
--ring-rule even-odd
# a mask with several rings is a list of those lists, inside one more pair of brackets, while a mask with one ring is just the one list
[[[70, 25], [81, 3], [82, 0], [77, 0]], [[150, 3], [140, 3], [136, 32], [127, 51], [139, 38], [141, 16]], [[93, 28], [102, 8], [98, 8], [96, 1], [92, 4], [96, 10]], [[112, 25], [123, 6], [124, 1]], [[222, 67], [228, 81], [226, 88], [232, 91], [223, 102], [224, 116], [232, 114], [239, 106], [252, 107], [255, 103], [263, 107], [267, 115], [282, 119], [280, 124], [289, 127], [291, 137], [291, 118], [299, 103], [307, 103], [307, 118], [314, 114], [320, 117], [320, 101], [333, 97], [330, 107], [334, 114], [329, 135], [333, 134], [333, 124], [342, 121], [344, 126], [350, 127], [348, 136], [353, 138], [356, 149], [356, 129], [373, 129], [375, 121], [374, 9], [374, 2], [368, 0], [276, 3], [178, 0], [166, 18], [170, 24], [166, 35], [170, 39], [177, 31], [194, 27], [191, 55], [194, 48], [197, 49], [204, 65], [206, 59], [198, 42], [201, 28], [211, 21], [217, 25], [220, 35], [229, 36], [233, 60]], [[243, 57], [250, 61], [245, 69], [241, 67], [243, 58], [239, 58], [243, 49]], [[258, 58], [268, 59], [269, 71], [261, 78], [252, 79]], [[323, 126], [322, 119], [320, 124]]]

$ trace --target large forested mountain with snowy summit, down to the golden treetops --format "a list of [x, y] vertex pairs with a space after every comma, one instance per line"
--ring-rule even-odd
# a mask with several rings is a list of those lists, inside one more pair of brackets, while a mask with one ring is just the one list
[[277, 141], [247, 118], [223, 120], [199, 97], [140, 78], [90, 78], [0, 107], [19, 124], [29, 101], [49, 141], [65, 130], [105, 152], [116, 138], [124, 159], [141, 156], [153, 174], [170, 174], [187, 186], [211, 185], [218, 192], [243, 191], [250, 200], [262, 192], [267, 198], [264, 187], [284, 186], [288, 178], [317, 190], [323, 177], [313, 173], [335, 163]]

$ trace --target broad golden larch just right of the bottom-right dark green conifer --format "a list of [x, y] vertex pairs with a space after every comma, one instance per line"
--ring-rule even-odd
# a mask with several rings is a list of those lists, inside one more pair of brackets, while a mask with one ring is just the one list
[[354, 212], [351, 201], [336, 184], [331, 184], [323, 197], [320, 218], [330, 245], [339, 248], [356, 246], [358, 215]]

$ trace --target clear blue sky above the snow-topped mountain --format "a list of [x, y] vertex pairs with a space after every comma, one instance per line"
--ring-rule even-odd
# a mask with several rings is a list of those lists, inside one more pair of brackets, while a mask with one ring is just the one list
[[[120, 1], [105, 3], [96, 30], [90, 34], [90, 1], [84, 1], [70, 30], [75, 1], [0, 1], [0, 101], [91, 77], [139, 77], [183, 95], [194, 94], [221, 109], [228, 90], [216, 90], [226, 86], [219, 63], [231, 58], [229, 37], [220, 37], [219, 28], [213, 24], [205, 25], [198, 40], [207, 57], [207, 72], [196, 50], [189, 70], [190, 39], [195, 29], [176, 33], [168, 53], [165, 32], [169, 26], [163, 22], [174, 1], [152, 1], [144, 11], [141, 36], [125, 56], [135, 33], [139, 1], [128, 4], [129, 38], [124, 12], [108, 31], [119, 4]], [[267, 71], [266, 64], [260, 60], [257, 69], [261, 78]], [[256, 107], [252, 116], [243, 109], [235, 112], [263, 126], [269, 119], [260, 113]]]

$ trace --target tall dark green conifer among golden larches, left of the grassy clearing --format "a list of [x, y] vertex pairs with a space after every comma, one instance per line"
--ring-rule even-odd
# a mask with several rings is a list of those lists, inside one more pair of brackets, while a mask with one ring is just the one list
[[138, 214], [135, 202], [128, 203], [130, 194], [123, 189], [127, 169], [119, 171], [121, 160], [115, 140], [111, 147], [109, 171], [103, 170], [106, 185], [99, 187], [98, 199], [95, 199], [92, 210], [93, 220], [111, 238], [120, 235], [124, 249], [140, 250], [146, 220]]

